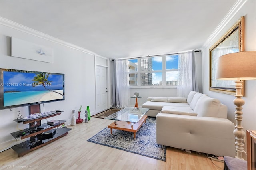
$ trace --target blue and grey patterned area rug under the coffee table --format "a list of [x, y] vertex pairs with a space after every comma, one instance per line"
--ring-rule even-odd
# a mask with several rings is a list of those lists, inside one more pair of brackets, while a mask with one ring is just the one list
[[154, 117], [146, 119], [146, 124], [140, 127], [135, 139], [133, 132], [113, 129], [110, 134], [110, 128], [106, 127], [87, 141], [162, 161], [166, 159], [166, 146], [156, 144], [156, 119]]

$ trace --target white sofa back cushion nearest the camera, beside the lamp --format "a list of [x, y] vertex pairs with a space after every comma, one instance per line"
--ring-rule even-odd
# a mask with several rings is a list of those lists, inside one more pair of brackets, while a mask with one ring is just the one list
[[217, 117], [220, 105], [218, 99], [204, 95], [198, 99], [194, 112], [197, 113], [197, 116]]

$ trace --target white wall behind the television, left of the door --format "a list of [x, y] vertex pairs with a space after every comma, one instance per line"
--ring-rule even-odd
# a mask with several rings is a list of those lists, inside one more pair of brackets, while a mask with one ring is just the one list
[[[19, 38], [27, 42], [40, 44], [53, 49], [53, 63], [45, 63], [30, 59], [22, 59], [10, 56], [10, 37]], [[86, 106], [90, 106], [92, 114], [95, 112], [95, 64], [94, 55], [54, 43], [31, 34], [1, 25], [1, 53], [0, 67], [31, 71], [45, 71], [65, 74], [65, 101], [44, 104], [45, 112], [56, 109], [63, 110], [61, 115], [54, 119], [68, 120], [70, 124], [72, 110], [82, 107], [82, 113]], [[43, 111], [41, 105], [41, 112]], [[28, 116], [28, 107], [14, 108], [20, 111], [22, 117]], [[10, 109], [0, 111], [0, 144], [1, 151], [14, 145], [14, 138], [10, 133], [27, 128], [28, 125], [16, 123], [13, 119], [18, 116], [17, 112]], [[75, 114], [78, 117], [78, 113]], [[84, 118], [84, 114], [81, 114]], [[42, 120], [45, 123], [46, 120]]]

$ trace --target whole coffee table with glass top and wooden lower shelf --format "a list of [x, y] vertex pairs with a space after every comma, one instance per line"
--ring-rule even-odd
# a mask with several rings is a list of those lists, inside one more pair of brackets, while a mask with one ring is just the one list
[[143, 123], [146, 123], [148, 116], [145, 115], [145, 113], [148, 110], [149, 109], [146, 108], [134, 109], [133, 107], [126, 107], [104, 119], [115, 120], [113, 123], [108, 125], [111, 134], [112, 129], [118, 129], [133, 132], [134, 138], [136, 138], [136, 132], [138, 132]]

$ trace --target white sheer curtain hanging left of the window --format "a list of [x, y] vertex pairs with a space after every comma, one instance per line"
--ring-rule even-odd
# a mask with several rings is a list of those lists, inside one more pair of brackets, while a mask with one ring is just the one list
[[116, 85], [118, 91], [119, 108], [128, 107], [129, 105], [129, 79], [127, 76], [128, 61], [116, 60]]

